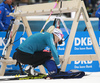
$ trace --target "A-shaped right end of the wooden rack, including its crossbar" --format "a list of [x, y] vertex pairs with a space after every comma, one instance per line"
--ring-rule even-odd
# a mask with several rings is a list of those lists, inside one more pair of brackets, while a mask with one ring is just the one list
[[[93, 47], [94, 47], [94, 50], [96, 53], [95, 55], [91, 55], [91, 54], [88, 54], [88, 55], [70, 55], [72, 44], [74, 41], [75, 33], [76, 33], [78, 22], [79, 22], [79, 17], [80, 17], [81, 13], [83, 15], [83, 19], [85, 21], [89, 36], [91, 38], [91, 41], [92, 41], [92, 44], [93, 44]], [[93, 27], [91, 25], [89, 16], [87, 14], [87, 10], [85, 8], [84, 2], [81, 1], [81, 3], [79, 4], [79, 9], [76, 12], [75, 18], [73, 20], [73, 24], [72, 24], [69, 39], [67, 42], [66, 50], [65, 50], [64, 57], [62, 60], [61, 70], [65, 71], [66, 66], [69, 62], [77, 61], [77, 60], [83, 60], [83, 61], [84, 60], [94, 60], [94, 61], [99, 61], [99, 64], [100, 64], [100, 55], [99, 54], [100, 54], [100, 49], [99, 49], [99, 45], [98, 45], [97, 39], [95, 37], [94, 31], [93, 31]]]

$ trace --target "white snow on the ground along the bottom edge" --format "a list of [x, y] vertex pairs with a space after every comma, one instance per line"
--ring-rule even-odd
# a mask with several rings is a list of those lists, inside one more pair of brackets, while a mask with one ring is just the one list
[[[8, 78], [9, 76], [1, 76], [1, 78]], [[86, 72], [86, 76], [81, 79], [33, 79], [33, 80], [14, 80], [14, 81], [0, 81], [0, 83], [100, 83], [100, 72]]]

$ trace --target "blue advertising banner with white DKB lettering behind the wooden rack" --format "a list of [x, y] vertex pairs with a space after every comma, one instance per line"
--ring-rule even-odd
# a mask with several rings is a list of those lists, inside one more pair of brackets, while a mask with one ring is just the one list
[[[33, 32], [33, 34], [34, 33], [37, 33], [37, 32]], [[3, 38], [5, 37], [5, 34], [6, 34], [5, 32], [0, 32], [0, 56], [2, 56], [2, 50], [4, 48]], [[21, 37], [22, 34], [23, 34], [23, 32], [17, 32], [17, 34], [16, 34], [14, 46], [12, 48], [11, 55], [10, 55], [11, 57], [13, 56], [15, 49], [27, 38], [26, 33], [24, 34], [23, 37]], [[66, 38], [67, 33], [63, 32], [63, 34], [64, 34], [64, 38]], [[95, 31], [95, 35], [96, 35], [97, 42], [100, 46], [100, 32]], [[16, 41], [16, 40], [18, 40], [18, 41]], [[58, 45], [57, 50], [58, 50], [59, 55], [64, 55], [67, 41], [68, 41], [68, 38], [61, 45]], [[46, 47], [46, 49], [48, 49], [48, 47]], [[71, 54], [72, 55], [95, 54], [95, 51], [94, 51], [94, 48], [93, 48], [93, 45], [91, 42], [91, 38], [87, 31], [86, 32], [82, 32], [82, 31], [76, 32], [73, 46], [71, 49]], [[0, 64], [2, 64], [2, 63], [0, 63]], [[6, 70], [16, 70], [16, 69], [19, 70], [19, 67], [15, 66], [15, 65], [8, 65], [6, 68]], [[38, 70], [38, 67], [36, 67], [36, 69]], [[98, 61], [72, 61], [71, 64], [67, 65], [67, 68], [66, 68], [66, 70], [70, 70], [70, 69], [78, 69], [78, 70], [88, 71], [88, 72], [100, 71]]]

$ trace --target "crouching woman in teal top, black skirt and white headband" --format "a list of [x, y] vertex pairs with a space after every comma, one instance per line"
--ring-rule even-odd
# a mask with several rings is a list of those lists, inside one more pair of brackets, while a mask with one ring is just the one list
[[[61, 41], [63, 36], [60, 29], [51, 26], [47, 32], [36, 33], [28, 37], [16, 49], [13, 58], [23, 64], [32, 65], [34, 68], [44, 65], [49, 73], [57, 73], [57, 65], [60, 62], [55, 44]], [[51, 52], [43, 51], [47, 46]], [[54, 60], [52, 60], [52, 57]]]

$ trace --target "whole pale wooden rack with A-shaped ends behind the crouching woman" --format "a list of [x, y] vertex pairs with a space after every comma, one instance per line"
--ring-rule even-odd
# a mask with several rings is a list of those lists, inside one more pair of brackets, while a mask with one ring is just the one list
[[[35, 5], [27, 5], [27, 6], [20, 6], [17, 7], [16, 12], [10, 14], [11, 16], [14, 16], [16, 20], [22, 19], [22, 22], [25, 25], [26, 33], [28, 36], [32, 35], [32, 32], [30, 30], [30, 26], [28, 24], [28, 21], [26, 19], [26, 16], [34, 16], [34, 15], [45, 15], [45, 14], [50, 14], [51, 11], [53, 11], [53, 14], [58, 14], [58, 13], [68, 13], [68, 12], [76, 12], [75, 18], [73, 20], [71, 32], [69, 35], [69, 39], [67, 42], [66, 50], [64, 53], [64, 56], [61, 56], [61, 70], [65, 71], [67, 64], [69, 64], [71, 61], [74, 60], [98, 60], [100, 63], [100, 51], [99, 51], [99, 45], [97, 43], [92, 25], [90, 23], [90, 19], [88, 17], [84, 2], [81, 0], [71, 0], [71, 1], [63, 1], [62, 2], [62, 8], [60, 8], [60, 2], [56, 6], [55, 9], [53, 9], [53, 6], [55, 5], [55, 2], [53, 3], [44, 3], [44, 4], [35, 4]], [[80, 14], [83, 14], [84, 21], [86, 23], [91, 41], [93, 43], [93, 47], [95, 50], [95, 55], [70, 55], [70, 51], [72, 48], [73, 40], [75, 37], [75, 33], [77, 30]], [[16, 28], [18, 25], [13, 25], [13, 33], [15, 33]], [[33, 27], [34, 28], [34, 27]], [[16, 35], [16, 34], [15, 34]], [[15, 39], [15, 35], [12, 39], [12, 42]], [[15, 64], [16, 60], [13, 60], [9, 58], [10, 52], [12, 50], [12, 45], [8, 47], [8, 51], [6, 53], [5, 58], [6, 60], [0, 60], [2, 62], [1, 69], [0, 69], [0, 76], [3, 76], [5, 73], [6, 66], [8, 64]], [[45, 73], [45, 69], [43, 66], [39, 66], [40, 71], [42, 73]]]

